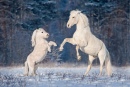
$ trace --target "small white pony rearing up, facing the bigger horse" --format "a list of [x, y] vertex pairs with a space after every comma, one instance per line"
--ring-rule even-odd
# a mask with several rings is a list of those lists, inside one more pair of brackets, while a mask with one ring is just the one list
[[41, 62], [47, 52], [51, 52], [51, 46], [57, 46], [57, 44], [53, 41], [48, 42], [46, 38], [49, 37], [49, 34], [42, 28], [36, 29], [32, 34], [32, 47], [34, 50], [30, 53], [27, 57], [25, 62], [25, 73], [24, 75], [27, 76], [29, 71], [31, 75], [36, 75], [36, 70], [38, 68], [38, 63]]

